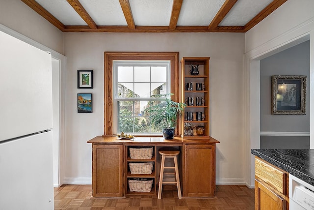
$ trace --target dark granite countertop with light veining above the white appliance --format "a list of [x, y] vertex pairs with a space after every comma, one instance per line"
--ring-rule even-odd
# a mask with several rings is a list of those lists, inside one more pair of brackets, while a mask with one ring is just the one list
[[252, 149], [251, 153], [314, 185], [314, 150]]

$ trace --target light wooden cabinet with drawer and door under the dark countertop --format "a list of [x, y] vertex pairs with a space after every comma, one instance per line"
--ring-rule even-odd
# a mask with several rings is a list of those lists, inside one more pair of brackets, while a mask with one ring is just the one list
[[288, 173], [255, 158], [255, 209], [288, 210]]

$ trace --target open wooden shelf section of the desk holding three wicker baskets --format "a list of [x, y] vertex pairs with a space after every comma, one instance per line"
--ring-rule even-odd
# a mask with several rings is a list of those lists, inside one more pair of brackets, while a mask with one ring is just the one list
[[[153, 153], [152, 153], [152, 158], [150, 159], [132, 159], [130, 157], [130, 148], [134, 148], [134, 146], [126, 146], [126, 153], [127, 153], [127, 165], [126, 165], [126, 172], [127, 172], [127, 195], [156, 195], [156, 146], [149, 146], [149, 147], [141, 147], [138, 146], [135, 149], [150, 149], [153, 148]], [[139, 164], [139, 166], [135, 166], [135, 167], [141, 167], [140, 165], [143, 163], [153, 163], [153, 168], [152, 168], [152, 173], [151, 174], [132, 174], [131, 173], [131, 169], [130, 169], [130, 163], [135, 163], [135, 164]], [[135, 168], [133, 167], [133, 168]], [[145, 168], [145, 167], [144, 167]], [[149, 167], [148, 167], [149, 168]], [[135, 171], [135, 170], [134, 170]], [[145, 172], [145, 171], [144, 171]], [[136, 192], [130, 191], [130, 183], [129, 180], [138, 180], [139, 184], [142, 184], [141, 182], [147, 182], [150, 180], [153, 180], [153, 184], [152, 184], [152, 188], [149, 192]], [[144, 184], [143, 184], [144, 185]]]

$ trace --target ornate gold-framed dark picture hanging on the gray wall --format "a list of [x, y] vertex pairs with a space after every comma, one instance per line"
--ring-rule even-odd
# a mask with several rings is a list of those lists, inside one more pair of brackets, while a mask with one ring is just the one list
[[273, 115], [305, 115], [306, 76], [272, 76]]

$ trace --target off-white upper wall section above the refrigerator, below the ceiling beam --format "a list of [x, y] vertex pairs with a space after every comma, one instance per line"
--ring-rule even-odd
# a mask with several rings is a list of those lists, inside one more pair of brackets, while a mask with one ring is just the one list
[[0, 24], [63, 54], [63, 33], [21, 0], [0, 0]]

